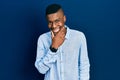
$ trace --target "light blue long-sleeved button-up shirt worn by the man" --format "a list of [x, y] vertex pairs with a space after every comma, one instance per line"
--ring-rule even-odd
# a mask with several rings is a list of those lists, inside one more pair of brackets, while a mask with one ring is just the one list
[[[67, 26], [66, 26], [67, 27]], [[52, 52], [51, 33], [38, 38], [35, 67], [44, 80], [89, 80], [89, 59], [84, 34], [67, 27], [64, 43]]]

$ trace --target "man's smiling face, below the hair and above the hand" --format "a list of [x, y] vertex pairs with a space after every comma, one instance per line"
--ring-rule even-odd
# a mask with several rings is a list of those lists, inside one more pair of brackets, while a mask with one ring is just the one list
[[64, 27], [66, 17], [60, 9], [58, 12], [47, 15], [48, 27], [55, 34], [57, 34], [62, 27]]

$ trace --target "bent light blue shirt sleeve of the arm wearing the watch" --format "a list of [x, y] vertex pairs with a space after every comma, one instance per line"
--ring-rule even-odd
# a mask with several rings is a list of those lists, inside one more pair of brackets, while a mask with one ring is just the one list
[[50, 49], [46, 49], [42, 38], [40, 37], [37, 44], [35, 67], [41, 74], [45, 74], [51, 68], [51, 65], [55, 64], [56, 59], [57, 52], [55, 53]]

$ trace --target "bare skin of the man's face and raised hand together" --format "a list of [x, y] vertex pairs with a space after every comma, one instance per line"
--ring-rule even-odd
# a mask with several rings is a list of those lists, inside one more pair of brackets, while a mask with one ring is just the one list
[[52, 44], [51, 46], [58, 49], [63, 44], [66, 35], [65, 22], [66, 17], [63, 10], [60, 9], [56, 13], [47, 15], [48, 28], [51, 30]]

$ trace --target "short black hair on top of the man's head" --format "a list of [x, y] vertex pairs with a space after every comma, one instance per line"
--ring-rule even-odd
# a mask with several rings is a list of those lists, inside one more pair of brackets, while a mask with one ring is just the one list
[[48, 14], [56, 13], [58, 10], [62, 9], [61, 5], [59, 4], [51, 4], [46, 8], [46, 16]]

